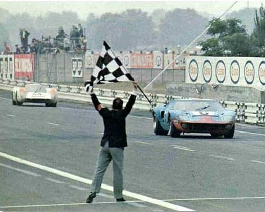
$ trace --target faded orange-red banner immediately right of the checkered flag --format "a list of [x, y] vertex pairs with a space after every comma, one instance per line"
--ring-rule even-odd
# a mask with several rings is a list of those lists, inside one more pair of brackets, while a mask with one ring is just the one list
[[152, 53], [131, 53], [130, 54], [131, 68], [153, 68]]

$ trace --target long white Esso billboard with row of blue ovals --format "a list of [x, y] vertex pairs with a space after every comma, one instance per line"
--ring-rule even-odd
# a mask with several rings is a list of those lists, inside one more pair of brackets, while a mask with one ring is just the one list
[[189, 56], [185, 80], [187, 83], [262, 87], [265, 58]]

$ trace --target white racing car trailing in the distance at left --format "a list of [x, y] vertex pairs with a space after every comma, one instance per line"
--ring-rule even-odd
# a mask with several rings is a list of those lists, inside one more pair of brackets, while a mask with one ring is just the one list
[[56, 107], [57, 89], [46, 88], [40, 84], [29, 84], [25, 87], [14, 87], [12, 90], [13, 105], [21, 106], [23, 102], [45, 103], [48, 107]]

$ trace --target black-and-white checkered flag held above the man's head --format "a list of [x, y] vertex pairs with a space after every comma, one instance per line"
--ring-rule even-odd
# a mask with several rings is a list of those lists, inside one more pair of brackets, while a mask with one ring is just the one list
[[124, 81], [134, 81], [134, 78], [127, 73], [120, 59], [114, 55], [111, 47], [104, 41], [90, 81], [86, 81], [84, 84], [85, 90], [91, 92], [94, 83], [105, 84]]

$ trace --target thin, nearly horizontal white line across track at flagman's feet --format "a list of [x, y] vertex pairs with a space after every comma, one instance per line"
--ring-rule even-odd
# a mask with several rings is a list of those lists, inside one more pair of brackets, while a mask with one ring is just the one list
[[[265, 199], [265, 197], [220, 197], [220, 198], [191, 198], [191, 199], [165, 199], [161, 201], [198, 201], [198, 200], [244, 200], [244, 199]], [[141, 200], [126, 201], [126, 202], [92, 202], [90, 204], [126, 204], [145, 202]], [[16, 206], [0, 206], [0, 208], [25, 208], [25, 207], [54, 207], [54, 206], [74, 206], [74, 205], [89, 205], [88, 203], [65, 203], [65, 204], [47, 204], [47, 205], [16, 205]]]

